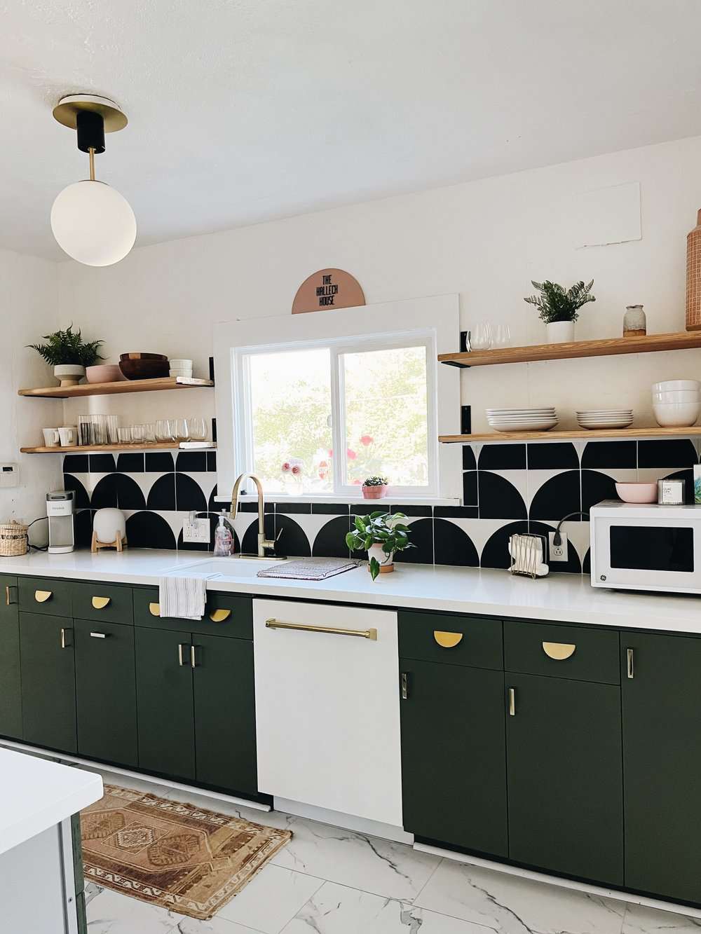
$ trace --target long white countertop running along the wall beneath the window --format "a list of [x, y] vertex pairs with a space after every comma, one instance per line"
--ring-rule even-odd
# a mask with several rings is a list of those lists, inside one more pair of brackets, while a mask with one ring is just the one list
[[[195, 562], [210, 558], [202, 552], [137, 548], [122, 554], [103, 551], [97, 555], [89, 551], [67, 555], [34, 552], [21, 558], [0, 559], [0, 573], [158, 585], [165, 573], [189, 573]], [[701, 633], [699, 597], [606, 590], [592, 587], [589, 578], [579, 574], [551, 573], [534, 581], [513, 577], [507, 571], [399, 563], [394, 573], [380, 574], [374, 582], [365, 565], [325, 581], [302, 581], [256, 577], [256, 569], [247, 567], [247, 562], [225, 560], [231, 560], [231, 570], [226, 564], [225, 576], [207, 581], [209, 589], [296, 600]], [[192, 570], [194, 573], [197, 569]]]

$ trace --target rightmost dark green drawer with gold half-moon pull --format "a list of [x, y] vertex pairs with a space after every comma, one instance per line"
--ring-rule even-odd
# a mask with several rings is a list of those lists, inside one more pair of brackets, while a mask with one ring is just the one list
[[508, 672], [621, 684], [618, 632], [613, 630], [507, 621], [504, 660]]

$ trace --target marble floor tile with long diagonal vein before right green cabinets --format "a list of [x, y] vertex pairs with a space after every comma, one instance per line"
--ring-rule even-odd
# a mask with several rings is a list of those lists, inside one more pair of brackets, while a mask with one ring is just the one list
[[556, 885], [445, 859], [417, 906], [500, 934], [620, 934], [625, 906]]

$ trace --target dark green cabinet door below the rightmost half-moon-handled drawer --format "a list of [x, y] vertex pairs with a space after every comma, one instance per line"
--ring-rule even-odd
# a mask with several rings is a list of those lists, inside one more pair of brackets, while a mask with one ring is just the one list
[[620, 688], [506, 678], [509, 858], [622, 885]]

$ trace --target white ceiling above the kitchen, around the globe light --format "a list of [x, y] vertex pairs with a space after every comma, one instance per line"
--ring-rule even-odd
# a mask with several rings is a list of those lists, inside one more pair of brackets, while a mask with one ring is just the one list
[[64, 258], [51, 107], [129, 117], [137, 244], [701, 134], [698, 0], [0, 0], [0, 247]]

